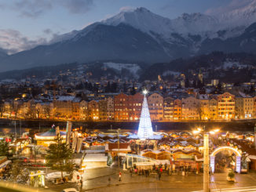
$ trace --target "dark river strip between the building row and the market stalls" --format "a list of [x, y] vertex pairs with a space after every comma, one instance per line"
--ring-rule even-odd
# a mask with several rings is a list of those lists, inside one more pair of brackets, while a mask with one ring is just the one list
[[[206, 129], [221, 129], [222, 131], [254, 132], [256, 120], [251, 121], [178, 121], [178, 122], [152, 122], [154, 131], [174, 132], [191, 131], [192, 129], [205, 126]], [[11, 120], [0, 119], [0, 128], [51, 128], [52, 125], [66, 128], [67, 121], [53, 120]], [[82, 127], [83, 131], [123, 129], [137, 131], [138, 121], [72, 121], [73, 128]]]

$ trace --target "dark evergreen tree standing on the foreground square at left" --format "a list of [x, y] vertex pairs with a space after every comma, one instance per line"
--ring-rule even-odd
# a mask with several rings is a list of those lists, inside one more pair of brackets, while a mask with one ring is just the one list
[[61, 178], [63, 178], [63, 172], [69, 170], [72, 159], [72, 150], [67, 143], [62, 143], [60, 134], [58, 134], [56, 143], [51, 144], [46, 152], [47, 165], [53, 170], [60, 171]]

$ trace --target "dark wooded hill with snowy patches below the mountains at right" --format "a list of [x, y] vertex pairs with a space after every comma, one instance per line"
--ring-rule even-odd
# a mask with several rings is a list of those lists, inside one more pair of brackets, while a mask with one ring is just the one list
[[256, 55], [251, 53], [221, 53], [177, 59], [170, 63], [155, 63], [144, 69], [141, 81], [173, 79], [177, 74], [192, 78], [201, 70], [208, 79], [218, 78], [223, 82], [250, 82], [256, 79]]

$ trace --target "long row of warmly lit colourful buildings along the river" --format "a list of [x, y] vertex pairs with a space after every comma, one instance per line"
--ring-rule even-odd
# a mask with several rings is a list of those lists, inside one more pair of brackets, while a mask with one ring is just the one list
[[[58, 118], [82, 121], [138, 121], [144, 96], [119, 95], [103, 100], [81, 100], [75, 96], [59, 96], [56, 100], [5, 102], [1, 116], [7, 118]], [[256, 96], [239, 92], [236, 96], [191, 94], [182, 98], [147, 96], [152, 121], [200, 121], [251, 119], [256, 117]]]

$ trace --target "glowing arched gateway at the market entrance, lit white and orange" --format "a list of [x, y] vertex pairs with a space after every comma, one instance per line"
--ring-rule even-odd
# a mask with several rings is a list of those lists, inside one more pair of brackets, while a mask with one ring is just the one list
[[240, 173], [240, 171], [241, 171], [241, 154], [238, 150], [236, 150], [233, 147], [229, 147], [229, 146], [218, 147], [217, 149], [215, 149], [210, 154], [210, 168], [211, 168], [211, 171], [214, 172], [215, 155], [218, 154], [219, 152], [223, 151], [223, 150], [231, 150], [234, 154], [236, 154], [236, 172]]

